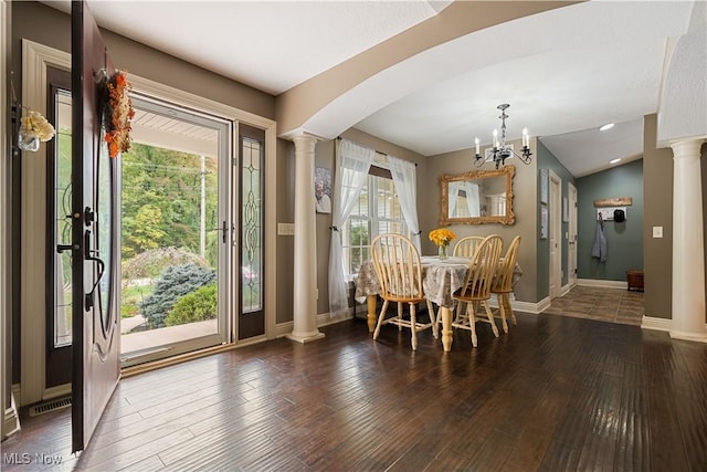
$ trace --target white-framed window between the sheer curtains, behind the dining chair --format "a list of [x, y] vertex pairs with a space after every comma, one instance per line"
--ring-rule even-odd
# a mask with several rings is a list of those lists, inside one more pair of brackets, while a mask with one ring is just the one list
[[344, 268], [349, 280], [371, 258], [371, 241], [378, 234], [410, 237], [390, 171], [372, 166], [342, 234]]

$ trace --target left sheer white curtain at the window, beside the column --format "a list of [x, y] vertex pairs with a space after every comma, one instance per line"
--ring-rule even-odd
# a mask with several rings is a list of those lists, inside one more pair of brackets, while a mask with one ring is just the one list
[[339, 143], [334, 179], [334, 211], [331, 214], [331, 250], [329, 253], [329, 313], [348, 310], [346, 272], [341, 254], [341, 232], [346, 220], [358, 202], [361, 189], [368, 180], [376, 150], [347, 139]]

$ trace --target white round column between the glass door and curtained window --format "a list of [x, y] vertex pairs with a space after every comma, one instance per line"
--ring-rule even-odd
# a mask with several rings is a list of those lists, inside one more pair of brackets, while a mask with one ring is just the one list
[[294, 328], [287, 335], [298, 343], [324, 337], [317, 329], [317, 241], [314, 196], [313, 136], [295, 136], [295, 261]]

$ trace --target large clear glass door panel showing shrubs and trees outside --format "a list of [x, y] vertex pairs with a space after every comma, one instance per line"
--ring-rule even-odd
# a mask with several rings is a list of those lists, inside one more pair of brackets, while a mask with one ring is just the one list
[[229, 123], [141, 97], [134, 107], [122, 161], [124, 366], [230, 333]]

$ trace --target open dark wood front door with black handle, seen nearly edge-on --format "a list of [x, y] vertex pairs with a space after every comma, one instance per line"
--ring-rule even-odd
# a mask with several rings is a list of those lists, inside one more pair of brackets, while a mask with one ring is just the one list
[[84, 2], [72, 2], [72, 450], [86, 448], [120, 375], [117, 158], [102, 135], [102, 90], [113, 67]]

